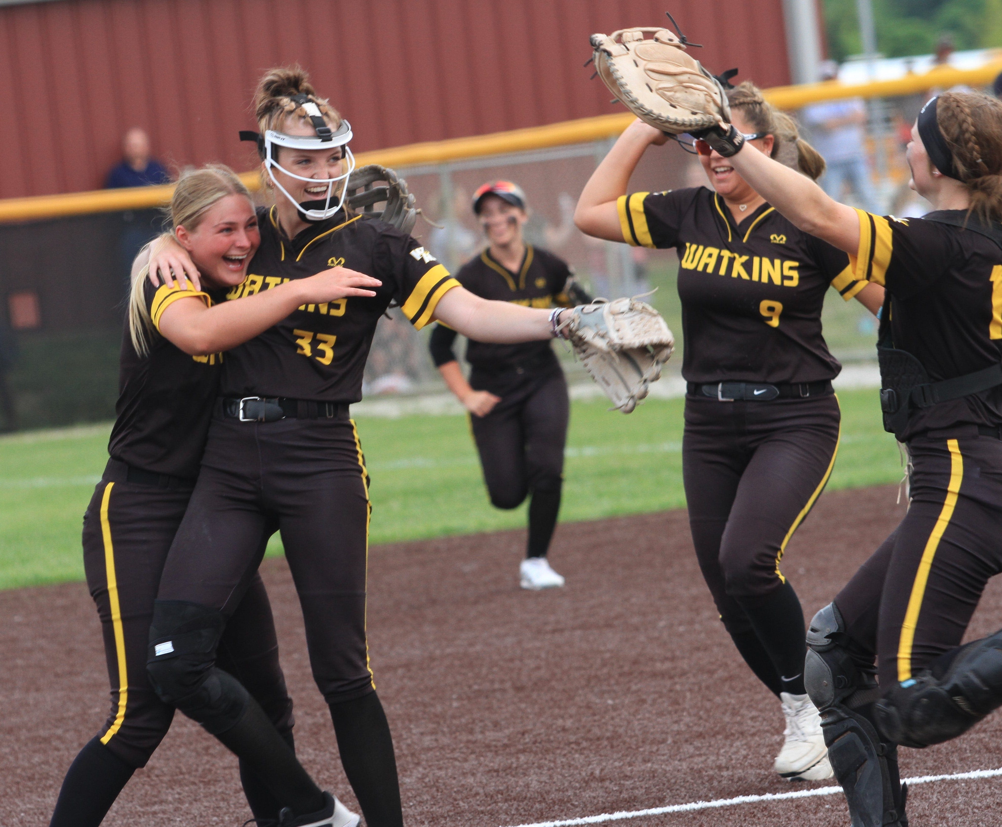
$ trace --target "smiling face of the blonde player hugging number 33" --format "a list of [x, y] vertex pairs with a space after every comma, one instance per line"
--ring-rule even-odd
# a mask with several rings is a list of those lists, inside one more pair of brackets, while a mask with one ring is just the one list
[[258, 214], [244, 195], [226, 195], [212, 204], [189, 230], [174, 230], [206, 287], [231, 287], [246, 276], [247, 264], [261, 245]]

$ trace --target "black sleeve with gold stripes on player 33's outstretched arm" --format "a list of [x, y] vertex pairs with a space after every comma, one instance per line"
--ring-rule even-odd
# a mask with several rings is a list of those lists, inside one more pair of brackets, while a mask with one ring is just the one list
[[382, 277], [391, 279], [394, 298], [408, 320], [420, 330], [432, 320], [442, 296], [460, 284], [411, 236], [387, 233], [381, 240]]

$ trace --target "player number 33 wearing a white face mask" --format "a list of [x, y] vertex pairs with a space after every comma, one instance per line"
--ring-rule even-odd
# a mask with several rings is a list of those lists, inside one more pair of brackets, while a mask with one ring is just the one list
[[[418, 328], [441, 318], [483, 341], [546, 340], [557, 312], [487, 301], [379, 220], [348, 215], [351, 126], [306, 74], [276, 69], [256, 97], [259, 149], [276, 205], [237, 298], [344, 264], [382, 282], [375, 295], [306, 303], [226, 353], [191, 507], [164, 566], [147, 670], [162, 699], [253, 766], [286, 806], [283, 827], [349, 824], [296, 761], [246, 690], [218, 668], [215, 642], [282, 532], [303, 607], [317, 685], [370, 827], [402, 824], [389, 724], [366, 640], [369, 475], [348, 406], [361, 396], [376, 323], [395, 299]], [[187, 271], [176, 247], [152, 271]], [[559, 309], [559, 308], [558, 308]]]

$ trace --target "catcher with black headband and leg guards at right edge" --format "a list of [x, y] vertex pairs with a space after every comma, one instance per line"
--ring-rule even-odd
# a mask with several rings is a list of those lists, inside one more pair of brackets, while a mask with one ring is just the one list
[[1002, 571], [1002, 103], [947, 92], [923, 107], [907, 149], [912, 186], [934, 206], [923, 218], [837, 203], [740, 151], [733, 131], [706, 139], [887, 287], [881, 406], [908, 446], [910, 505], [815, 616], [806, 674], [853, 823], [906, 825], [897, 745], [946, 741], [1002, 704], [1002, 633], [960, 646]]

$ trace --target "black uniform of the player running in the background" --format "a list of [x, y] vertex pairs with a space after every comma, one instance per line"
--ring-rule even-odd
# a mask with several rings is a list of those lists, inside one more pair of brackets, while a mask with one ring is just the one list
[[[482, 298], [511, 301], [528, 307], [569, 307], [564, 292], [571, 271], [553, 253], [526, 245], [517, 272], [496, 261], [489, 250], [472, 258], [456, 278]], [[437, 324], [431, 352], [440, 367], [454, 361], [456, 331]], [[491, 503], [499, 509], [521, 505], [530, 491], [558, 491], [563, 474], [564, 446], [570, 405], [567, 382], [548, 341], [494, 344], [470, 339], [470, 386], [501, 397], [486, 417], [470, 417]], [[555, 515], [554, 515], [555, 518]], [[549, 527], [540, 554], [549, 545]]]

